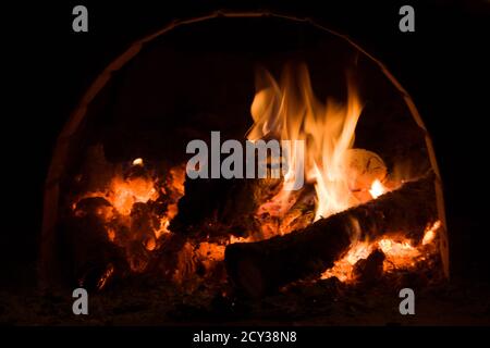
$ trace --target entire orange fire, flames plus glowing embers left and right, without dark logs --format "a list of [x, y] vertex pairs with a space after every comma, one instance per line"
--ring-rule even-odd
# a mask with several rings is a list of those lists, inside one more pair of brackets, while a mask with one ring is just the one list
[[[185, 241], [172, 270], [173, 279], [182, 283], [194, 275], [198, 269], [196, 260], [206, 271], [211, 270], [223, 261], [229, 244], [284, 235], [378, 199], [393, 189], [395, 185], [388, 179], [383, 160], [370, 150], [354, 148], [362, 111], [363, 102], [352, 78], [347, 78], [344, 103], [331, 98], [321, 102], [314, 95], [306, 65], [301, 65], [298, 71], [285, 70], [280, 82], [269, 72], [260, 71], [250, 107], [254, 124], [247, 138], [252, 141], [275, 138], [291, 140], [293, 145], [303, 140], [305, 152], [293, 148], [282, 153], [286, 157], [287, 172], [282, 177], [282, 186], [274, 186], [280, 187], [279, 190], [271, 192], [266, 201], [257, 202], [255, 217], [260, 222], [259, 232], [248, 232], [244, 237], [230, 235], [229, 239], [224, 237], [220, 241], [209, 236], [206, 241]], [[118, 172], [103, 189], [77, 197], [71, 207], [74, 216], [84, 217], [88, 211], [81, 202], [86, 198], [98, 199], [95, 214], [105, 225], [107, 240], [124, 251], [131, 271], [140, 273], [148, 268], [152, 252], [171, 236], [169, 226], [185, 194], [185, 166], [167, 169], [164, 175], [157, 175], [149, 163], [136, 158], [124, 163], [124, 167], [130, 167], [127, 173]], [[292, 191], [286, 187], [294, 183], [296, 167], [304, 167], [307, 185], [299, 191]], [[382, 261], [383, 272], [413, 268], [424, 260], [440, 226], [440, 221], [428, 226], [420, 245], [413, 245], [402, 233], [378, 240], [359, 240], [357, 235], [352, 236], [347, 252], [326, 270], [321, 278], [335, 276], [342, 282], [356, 282], [356, 265], [375, 251], [383, 257], [378, 259], [379, 270]], [[114, 265], [110, 264], [97, 287], [103, 288], [114, 272]]]

